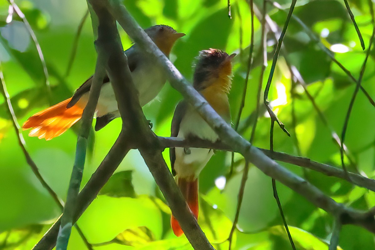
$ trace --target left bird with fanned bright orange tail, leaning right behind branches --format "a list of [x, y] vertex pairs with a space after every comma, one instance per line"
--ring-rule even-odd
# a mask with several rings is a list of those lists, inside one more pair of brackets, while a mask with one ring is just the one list
[[[167, 25], [155, 25], [147, 28], [145, 32], [169, 57], [169, 53], [176, 40], [184, 33], [177, 33]], [[139, 93], [139, 102], [144, 106], [157, 96], [166, 81], [166, 75], [160, 65], [150, 61], [141, 53], [137, 44], [124, 51], [127, 56], [129, 69], [132, 72], [133, 82]], [[93, 76], [79, 87], [74, 95], [52, 107], [44, 109], [23, 124], [24, 130], [31, 129], [29, 136], [45, 138], [47, 141], [61, 135], [74, 123], [81, 119], [83, 109], [89, 100], [89, 91]], [[114, 118], [120, 117], [115, 94], [111, 82], [106, 76], [100, 91], [98, 104], [96, 105], [95, 131], [102, 129]]]

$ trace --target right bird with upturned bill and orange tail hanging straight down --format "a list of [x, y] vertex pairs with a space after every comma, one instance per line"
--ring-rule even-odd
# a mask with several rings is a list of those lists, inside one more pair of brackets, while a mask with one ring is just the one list
[[[235, 55], [228, 55], [219, 49], [199, 52], [193, 77], [193, 87], [228, 123], [231, 120], [228, 102], [232, 75], [231, 61]], [[184, 139], [199, 138], [212, 142], [219, 139], [216, 132], [185, 101], [178, 103], [174, 111], [171, 136]], [[198, 219], [198, 176], [213, 154], [212, 149], [206, 148], [171, 148], [169, 151], [172, 174], [175, 175], [177, 185], [196, 219]], [[173, 215], [171, 226], [175, 235], [183, 234]]]

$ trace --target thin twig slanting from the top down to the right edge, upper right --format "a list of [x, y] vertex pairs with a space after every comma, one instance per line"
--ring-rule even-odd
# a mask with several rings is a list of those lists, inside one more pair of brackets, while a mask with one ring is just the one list
[[[272, 1], [272, 0], [267, 0], [267, 1], [270, 1], [273, 6], [275, 6], [276, 8], [278, 8], [279, 10], [282, 10], [284, 12], [286, 12], [286, 10], [284, 10], [282, 8], [282, 6], [275, 2], [275, 1]], [[326, 53], [326, 55], [328, 55], [331, 60], [336, 63], [348, 76], [349, 78], [352, 80], [352, 82], [354, 83], [357, 83], [357, 79], [354, 78], [354, 76], [351, 74], [351, 72], [344, 67], [344, 65], [342, 65], [334, 56], [334, 53], [332, 51], [330, 51], [329, 48], [327, 48], [321, 41], [320, 39], [312, 32], [312, 30], [310, 30], [310, 28], [299, 18], [297, 17], [296, 15], [293, 15], [292, 18], [299, 24], [301, 25], [301, 27], [305, 30], [305, 33], [310, 37], [311, 40], [313, 40], [314, 42], [317, 43], [317, 45], [320, 47], [320, 49]], [[363, 92], [363, 94], [365, 94], [365, 96], [367, 97], [367, 99], [369, 100], [369, 102], [371, 103], [372, 106], [375, 107], [375, 102], [374, 100], [371, 98], [370, 94], [365, 90], [365, 88], [363, 88], [363, 86], [361, 85], [360, 86], [361, 88], [361, 91]]]

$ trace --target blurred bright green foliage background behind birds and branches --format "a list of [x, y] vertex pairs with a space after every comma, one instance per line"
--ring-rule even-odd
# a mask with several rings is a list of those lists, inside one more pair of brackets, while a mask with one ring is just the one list
[[[86, 1], [24, 0], [16, 3], [28, 18], [45, 56], [52, 87], [51, 104], [70, 97], [75, 88], [93, 73], [95, 67], [96, 52], [91, 22], [88, 19], [78, 43], [77, 57], [71, 73], [68, 77], [65, 76], [72, 42], [80, 19], [87, 9]], [[234, 65], [233, 88], [229, 95], [232, 117], [235, 120], [245, 82], [250, 40], [251, 21], [248, 4], [244, 0], [232, 1], [232, 19], [228, 18], [225, 0], [129, 0], [125, 1], [125, 4], [144, 28], [155, 24], [168, 24], [187, 34], [177, 42], [171, 55], [171, 60], [187, 79], [191, 79], [192, 62], [199, 50], [219, 48], [228, 53], [239, 53]], [[255, 4], [261, 9], [262, 1], [255, 1]], [[290, 6], [290, 2], [284, 0], [280, 4], [285, 4], [285, 8]], [[350, 5], [367, 47], [372, 32], [368, 1], [353, 0], [350, 1]], [[282, 27], [286, 18], [285, 12], [278, 11], [270, 4], [267, 6], [271, 18]], [[43, 69], [35, 45], [23, 23], [16, 16], [13, 16], [14, 21], [10, 24], [5, 23], [7, 10], [7, 2], [0, 1], [0, 59], [15, 113], [22, 124], [30, 115], [48, 107], [49, 103], [45, 92]], [[360, 47], [343, 1], [300, 0], [297, 2], [294, 15], [301, 18], [327, 47], [330, 48], [333, 44], [347, 46], [348, 52], [334, 53], [334, 56], [356, 78], [359, 76], [365, 53]], [[261, 65], [260, 22], [256, 18], [254, 26], [255, 67], [249, 78], [246, 106], [240, 124], [240, 130], [246, 139], [249, 139], [252, 129], [246, 120], [255, 109]], [[321, 36], [323, 29], [329, 30], [327, 37]], [[121, 29], [120, 34], [126, 49], [131, 42]], [[275, 42], [272, 34], [269, 34], [268, 38], [270, 65]], [[274, 110], [278, 112], [279, 118], [292, 137], [287, 137], [275, 126], [275, 150], [297, 155], [297, 144], [293, 139], [297, 136], [302, 156], [340, 166], [339, 149], [332, 141], [330, 128], [338, 134], [341, 133], [354, 84], [317, 44], [309, 39], [293, 19], [284, 43], [285, 48], [282, 49], [282, 56], [276, 67], [269, 97], [270, 100], [278, 100]], [[239, 49], [240, 45], [243, 51]], [[287, 55], [287, 60], [297, 67], [309, 84], [308, 90], [315, 97], [330, 128], [320, 120], [303, 88], [297, 86], [294, 99], [296, 130], [293, 129], [291, 76], [284, 55]], [[372, 51], [363, 77], [363, 86], [373, 98], [374, 56], [375, 53]], [[269, 70], [270, 67], [267, 67], [263, 86]], [[157, 135], [169, 136], [172, 114], [179, 100], [181, 95], [167, 83], [159, 96], [144, 107], [145, 115], [153, 122], [153, 130]], [[270, 118], [265, 117], [264, 112], [263, 109], [254, 144], [268, 148]], [[117, 138], [120, 124], [120, 119], [117, 119], [95, 133], [95, 144], [87, 157], [83, 184], [89, 180]], [[345, 143], [358, 171], [370, 178], [374, 176], [375, 166], [374, 127], [375, 109], [363, 93], [359, 92]], [[75, 130], [77, 128], [78, 126], [74, 127]], [[27, 132], [24, 132], [27, 149], [40, 173], [63, 200], [66, 199], [75, 156], [77, 135], [74, 129], [48, 142], [29, 138]], [[164, 156], [169, 164], [168, 150], [165, 150]], [[200, 176], [199, 224], [216, 249], [227, 249], [228, 242], [222, 242], [228, 237], [231, 221], [236, 212], [237, 193], [244, 162], [239, 155], [235, 156], [235, 160], [235, 174], [227, 181], [224, 190], [219, 190], [215, 186], [215, 180], [228, 173], [230, 153], [217, 152]], [[374, 193], [368, 190], [320, 173], [303, 171], [296, 166], [284, 163], [282, 165], [303, 176], [338, 202], [363, 210], [375, 205]], [[128, 172], [123, 172], [126, 170]], [[132, 171], [131, 174], [129, 170]], [[107, 195], [99, 195], [78, 224], [90, 243], [111, 241], [124, 232], [117, 237], [117, 242], [133, 246], [113, 243], [95, 246], [94, 249], [191, 249], [184, 236], [176, 238], [172, 234], [169, 228], [170, 210], [139, 153], [130, 151], [116, 172], [119, 174], [111, 180], [112, 184], [107, 187], [106, 192], [103, 192]], [[127, 181], [121, 183], [123, 179]], [[333, 218], [287, 187], [278, 184], [278, 190], [297, 249], [327, 249], [326, 243], [330, 239]], [[0, 249], [31, 249], [59, 214], [57, 205], [27, 165], [5, 111], [4, 100], [0, 97]], [[145, 228], [148, 229], [148, 234], [142, 234], [143, 236], [138, 238], [126, 231], [140, 231]], [[234, 249], [291, 249], [273, 198], [271, 179], [252, 165], [238, 229], [234, 235]], [[374, 235], [354, 226], [342, 228], [339, 243], [344, 250], [375, 248]], [[86, 249], [75, 229], [69, 249]]]

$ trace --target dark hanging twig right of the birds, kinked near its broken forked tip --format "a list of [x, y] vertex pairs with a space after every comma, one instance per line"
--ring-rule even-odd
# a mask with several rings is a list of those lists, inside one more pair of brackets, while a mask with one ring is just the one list
[[292, 0], [292, 4], [290, 6], [287, 19], [285, 20], [284, 27], [283, 27], [283, 29], [281, 31], [281, 34], [280, 34], [280, 37], [279, 37], [278, 45], [276, 46], [275, 54], [273, 55], [271, 71], [270, 71], [270, 75], [269, 75], [269, 78], [268, 78], [268, 81], [267, 81], [266, 89], [264, 90], [264, 97], [263, 97], [264, 105], [266, 105], [266, 108], [267, 108], [267, 111], [270, 114], [271, 120], [272, 119], [275, 120], [279, 124], [280, 128], [285, 133], [287, 133], [288, 136], [290, 136], [290, 133], [288, 132], [287, 129], [285, 129], [285, 125], [279, 120], [279, 118], [276, 116], [276, 114], [272, 111], [272, 108], [270, 106], [270, 102], [268, 100], [268, 93], [269, 93], [269, 90], [270, 90], [273, 73], [275, 72], [276, 63], [278, 61], [282, 41], [284, 39], [285, 33], [287, 32], [288, 24], [289, 24], [290, 18], [292, 16], [294, 6], [296, 6], [296, 3], [297, 3], [297, 0]]

